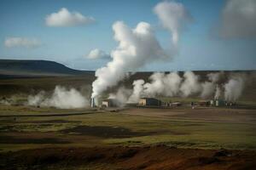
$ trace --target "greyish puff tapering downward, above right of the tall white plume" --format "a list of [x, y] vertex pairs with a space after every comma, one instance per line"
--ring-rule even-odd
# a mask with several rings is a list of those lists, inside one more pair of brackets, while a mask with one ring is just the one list
[[160, 19], [161, 25], [172, 33], [172, 42], [177, 45], [179, 31], [189, 21], [192, 20], [189, 12], [182, 3], [162, 2], [158, 3], [154, 9]]

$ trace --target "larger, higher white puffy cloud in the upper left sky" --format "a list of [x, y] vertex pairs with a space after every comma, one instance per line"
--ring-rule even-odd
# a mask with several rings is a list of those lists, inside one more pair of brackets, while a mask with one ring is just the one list
[[81, 26], [95, 21], [91, 16], [84, 16], [79, 12], [69, 12], [67, 8], [61, 8], [59, 12], [49, 14], [45, 18], [46, 26]]

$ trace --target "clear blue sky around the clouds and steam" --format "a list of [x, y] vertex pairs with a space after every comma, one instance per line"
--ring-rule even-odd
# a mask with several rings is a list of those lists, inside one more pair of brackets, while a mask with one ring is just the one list
[[[117, 47], [113, 40], [113, 23], [123, 20], [131, 28], [141, 21], [154, 27], [163, 48], [170, 35], [160, 26], [153, 12], [157, 0], [1, 0], [0, 59], [49, 59], [75, 69], [96, 70], [108, 59], [87, 59], [90, 50], [99, 48], [106, 53]], [[255, 37], [223, 38], [216, 35], [221, 20], [223, 0], [183, 0], [193, 17], [193, 23], [180, 33], [179, 53], [170, 62], [154, 62], [141, 71], [187, 70], [247, 70], [256, 69]], [[49, 14], [61, 8], [91, 16], [89, 25], [53, 27], [45, 24]], [[6, 47], [9, 37], [36, 38], [35, 48]]]

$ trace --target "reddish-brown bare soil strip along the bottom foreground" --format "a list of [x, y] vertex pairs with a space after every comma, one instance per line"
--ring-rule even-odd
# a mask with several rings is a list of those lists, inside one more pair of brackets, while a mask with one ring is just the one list
[[[253, 150], [148, 147], [49, 148], [0, 154], [0, 169], [230, 169], [256, 167]], [[103, 166], [101, 166], [103, 165]]]

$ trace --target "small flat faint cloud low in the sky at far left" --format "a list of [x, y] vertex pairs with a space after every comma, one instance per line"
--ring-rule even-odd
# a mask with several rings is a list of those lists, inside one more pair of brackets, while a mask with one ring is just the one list
[[4, 41], [4, 46], [7, 48], [24, 47], [24, 48], [37, 48], [41, 42], [36, 38], [26, 37], [7, 37]]

